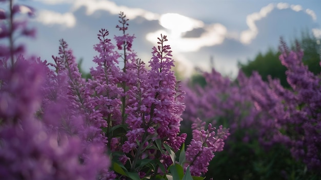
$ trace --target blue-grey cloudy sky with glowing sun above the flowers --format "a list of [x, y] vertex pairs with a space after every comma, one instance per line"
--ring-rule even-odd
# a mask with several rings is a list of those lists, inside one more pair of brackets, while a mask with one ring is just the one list
[[[29, 0], [36, 16], [30, 26], [37, 38], [28, 40], [27, 50], [42, 59], [57, 56], [64, 38], [82, 68], [89, 72], [97, 53], [97, 33], [105, 28], [109, 38], [121, 35], [115, 27], [123, 11], [130, 19], [127, 33], [134, 34], [137, 57], [148, 62], [160, 34], [168, 36], [177, 70], [192, 74], [197, 66], [211, 66], [224, 75], [236, 76], [237, 63], [253, 59], [258, 52], [276, 49], [280, 36], [286, 40], [308, 31], [321, 38], [319, 0]], [[212, 63], [211, 60], [212, 59]]]

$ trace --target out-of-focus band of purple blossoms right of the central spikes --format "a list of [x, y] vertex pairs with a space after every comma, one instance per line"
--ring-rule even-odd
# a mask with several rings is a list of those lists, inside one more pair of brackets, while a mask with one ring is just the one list
[[240, 72], [233, 82], [212, 70], [204, 73], [205, 87], [185, 84], [186, 110], [182, 117], [192, 123], [195, 118], [212, 123], [223, 119], [232, 135], [244, 129], [244, 142], [258, 140], [266, 149], [285, 145], [295, 160], [306, 164], [309, 170], [318, 170], [321, 79], [303, 64], [304, 54], [298, 44], [295, 51], [290, 51], [283, 40], [280, 44], [279, 59], [288, 69], [291, 89], [271, 77], [265, 82], [257, 72], [249, 78]]

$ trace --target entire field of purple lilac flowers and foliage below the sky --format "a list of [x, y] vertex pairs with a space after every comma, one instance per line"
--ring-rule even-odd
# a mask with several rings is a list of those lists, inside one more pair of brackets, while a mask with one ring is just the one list
[[299, 44], [280, 42], [291, 88], [214, 69], [191, 85], [166, 35], [149, 62], [136, 56], [121, 12], [84, 79], [64, 39], [53, 63], [28, 57], [15, 39], [35, 31], [16, 17], [33, 8], [0, 3], [0, 179], [320, 179], [321, 77]]

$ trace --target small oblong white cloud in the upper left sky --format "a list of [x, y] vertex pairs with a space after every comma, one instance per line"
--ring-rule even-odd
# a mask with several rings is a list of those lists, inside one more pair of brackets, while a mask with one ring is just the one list
[[54, 11], [41, 10], [38, 12], [36, 20], [45, 25], [59, 24], [68, 28], [72, 28], [76, 24], [76, 18], [69, 12], [61, 14]]

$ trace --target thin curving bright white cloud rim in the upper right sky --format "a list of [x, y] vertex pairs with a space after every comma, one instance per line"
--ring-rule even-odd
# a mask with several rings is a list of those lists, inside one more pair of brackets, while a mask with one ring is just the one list
[[[245, 30], [240, 33], [239, 40], [244, 44], [249, 44], [258, 34], [258, 30], [255, 22], [266, 17], [274, 8], [277, 9], [288, 9], [291, 8], [293, 11], [302, 11], [303, 8], [300, 5], [289, 5], [288, 3], [278, 3], [274, 5], [273, 3], [268, 6], [263, 7], [259, 12], [254, 12], [249, 14], [246, 18], [246, 23], [249, 27], [248, 30]], [[312, 17], [313, 20], [316, 20], [316, 14], [311, 9], [306, 9], [305, 12]]]

